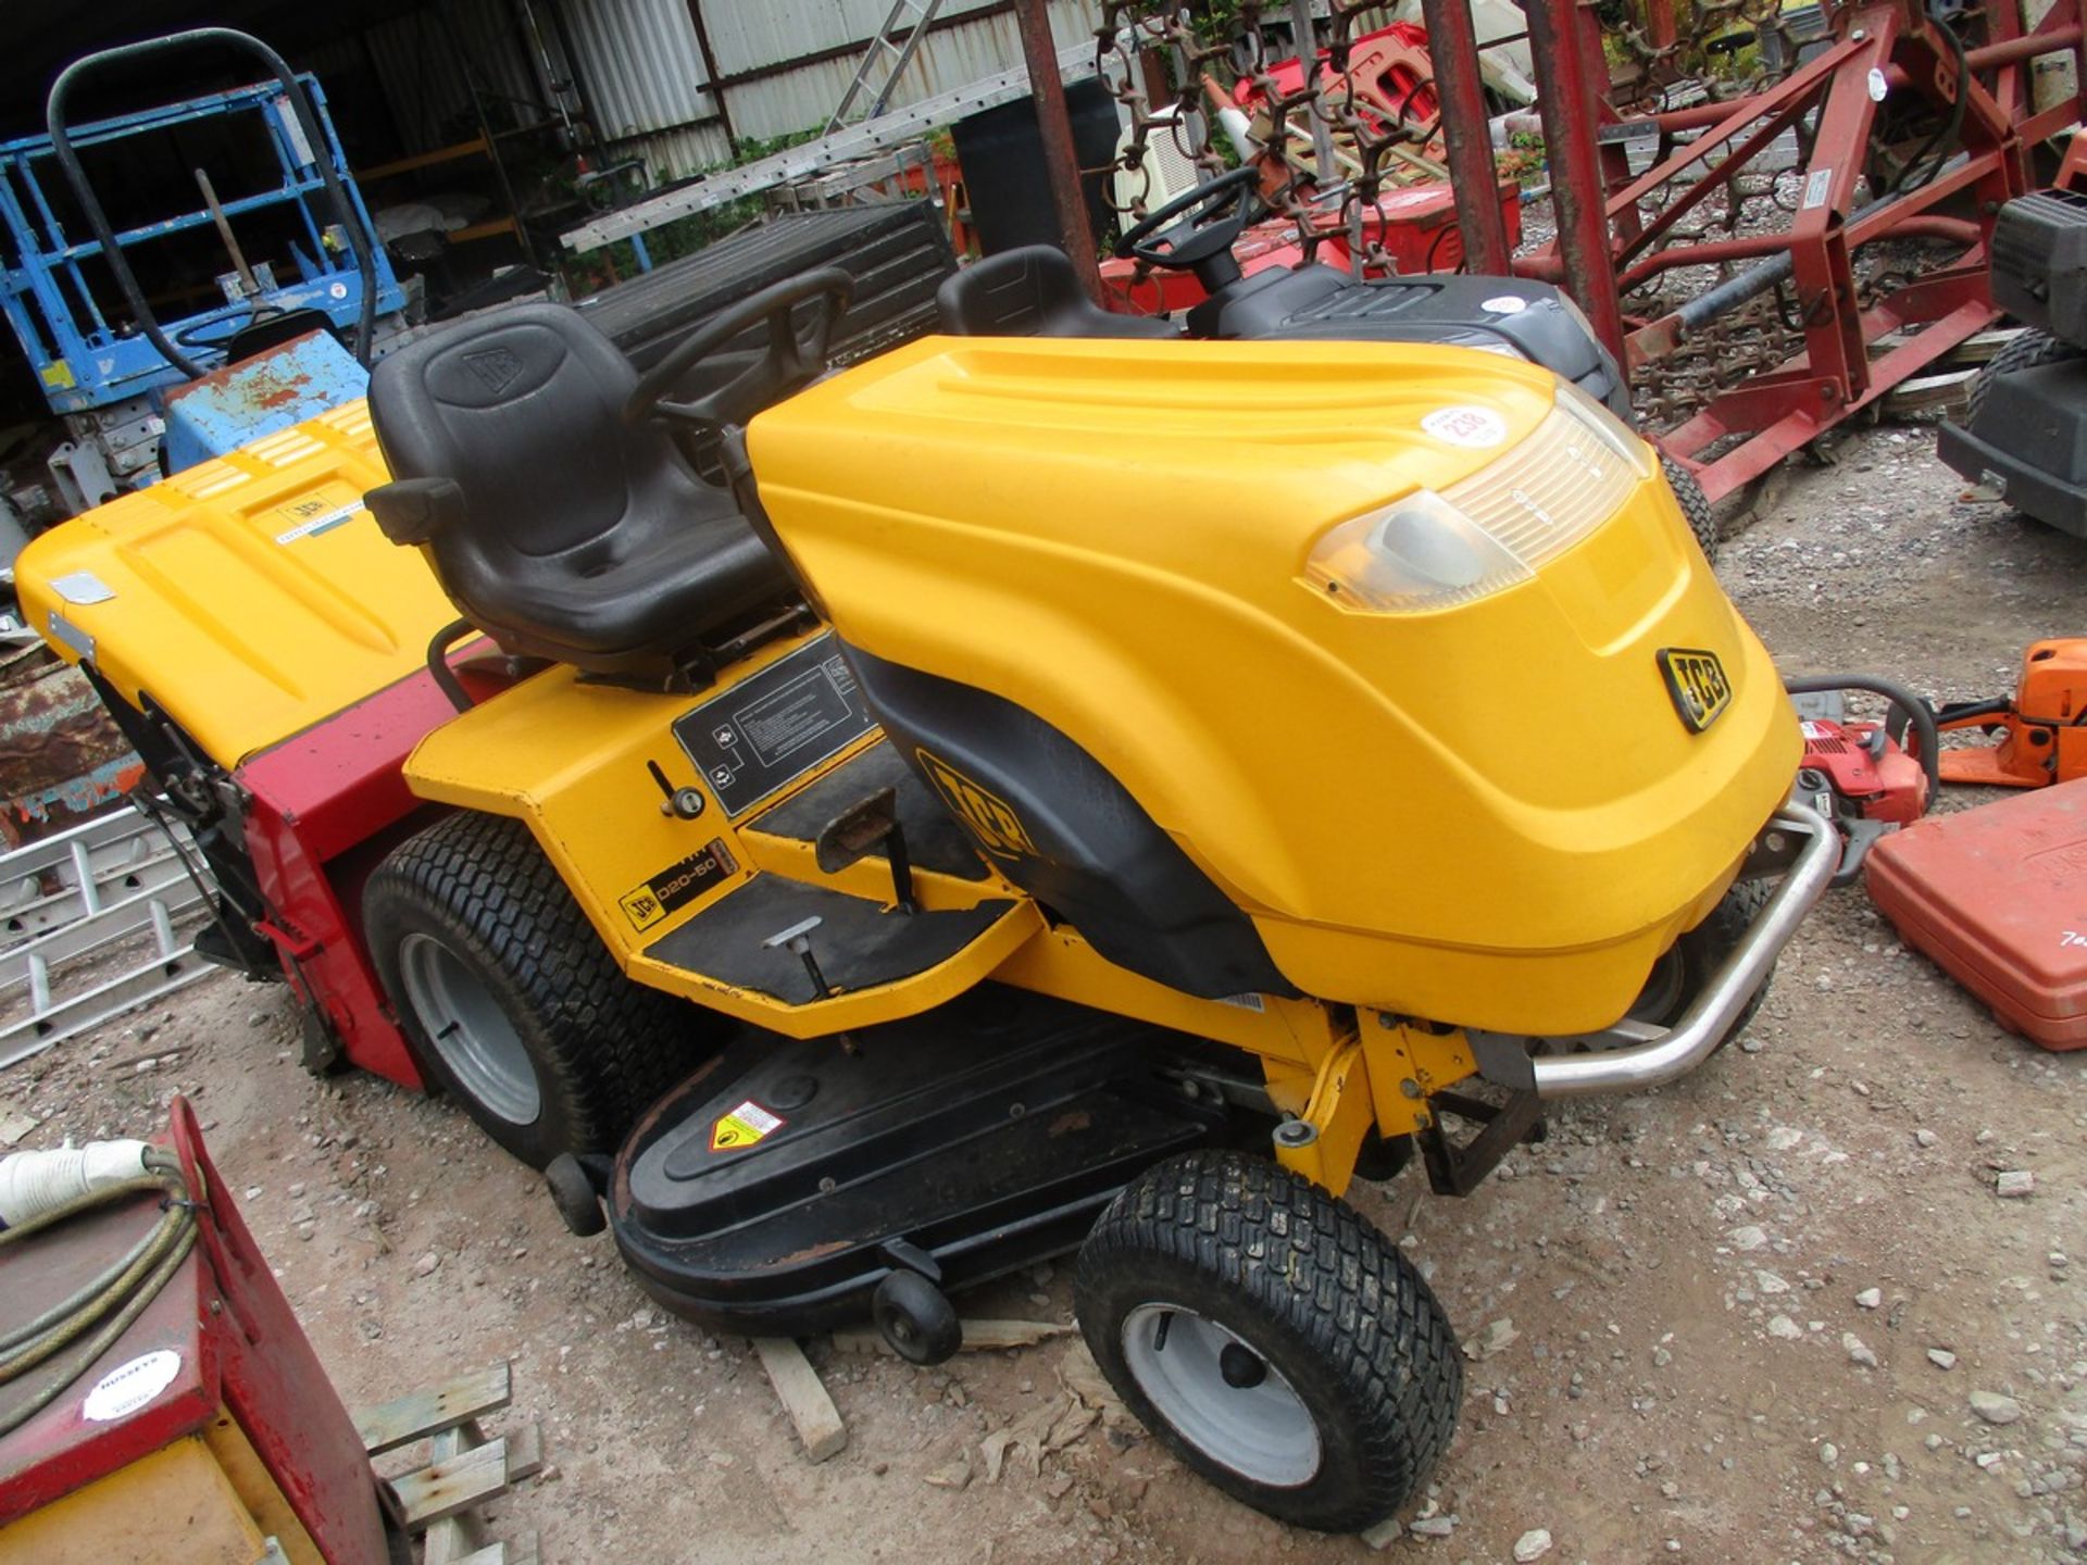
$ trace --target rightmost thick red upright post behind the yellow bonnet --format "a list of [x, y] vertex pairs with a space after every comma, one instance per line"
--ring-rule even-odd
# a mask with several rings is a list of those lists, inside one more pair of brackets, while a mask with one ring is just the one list
[[1624, 363], [1624, 307], [1615, 296], [1615, 252], [1594, 144], [1594, 83], [1580, 52], [1578, 0], [1530, 0], [1536, 113], [1551, 154], [1551, 204], [1559, 221], [1565, 288], [1594, 323], [1594, 336]]

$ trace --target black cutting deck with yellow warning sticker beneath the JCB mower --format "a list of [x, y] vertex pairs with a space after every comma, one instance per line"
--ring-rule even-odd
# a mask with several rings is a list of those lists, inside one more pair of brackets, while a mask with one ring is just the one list
[[1223, 1133], [1162, 1075], [1194, 1048], [998, 985], [843, 1037], [749, 1035], [624, 1143], [616, 1244], [676, 1315], [755, 1335], [860, 1319], [895, 1267], [945, 1287], [1014, 1271]]

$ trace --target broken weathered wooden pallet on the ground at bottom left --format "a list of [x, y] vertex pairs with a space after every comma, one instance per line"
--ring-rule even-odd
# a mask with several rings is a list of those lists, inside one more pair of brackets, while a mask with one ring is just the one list
[[534, 1423], [486, 1436], [480, 1419], [513, 1400], [505, 1363], [355, 1413], [363, 1450], [382, 1456], [415, 1440], [430, 1446], [428, 1463], [384, 1488], [392, 1515], [424, 1536], [424, 1565], [538, 1565], [536, 1534], [513, 1542], [488, 1540], [478, 1507], [505, 1494], [543, 1467], [543, 1431]]

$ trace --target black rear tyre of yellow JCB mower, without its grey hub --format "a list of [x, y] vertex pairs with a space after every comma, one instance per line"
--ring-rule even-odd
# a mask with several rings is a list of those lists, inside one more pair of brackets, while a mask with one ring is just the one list
[[[532, 1169], [561, 1152], [614, 1152], [724, 1031], [624, 977], [528, 826], [505, 816], [463, 810], [392, 849], [363, 891], [363, 931], [422, 1077]], [[534, 1123], [493, 1114], [442, 1064], [399, 979], [411, 931], [467, 958], [501, 1002], [536, 1070]]]

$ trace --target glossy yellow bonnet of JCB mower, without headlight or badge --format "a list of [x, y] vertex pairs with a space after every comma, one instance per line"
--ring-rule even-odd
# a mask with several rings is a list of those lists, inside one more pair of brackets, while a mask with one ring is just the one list
[[[1073, 737], [1304, 993], [1563, 1033], [1628, 1008], [1789, 791], [1766, 649], [1657, 478], [1465, 607], [1304, 580], [1327, 528], [1511, 453], [1555, 384], [1436, 346], [927, 338], [749, 449], [849, 645]], [[1455, 409], [1492, 449], [1428, 432]], [[1705, 732], [1661, 649], [1722, 659]]]

